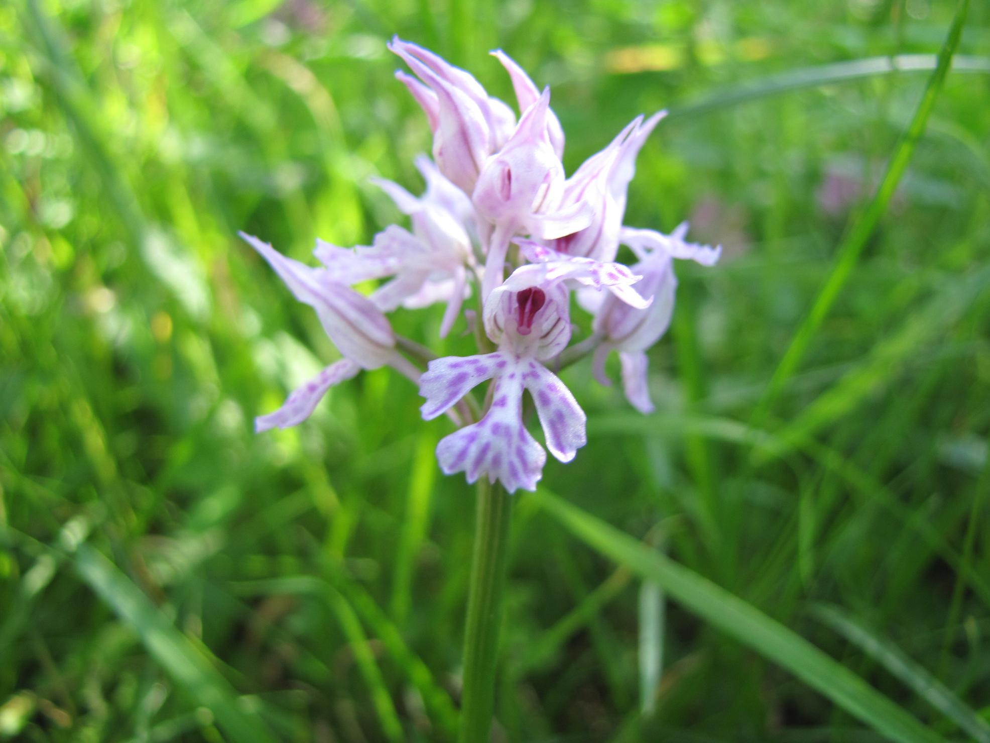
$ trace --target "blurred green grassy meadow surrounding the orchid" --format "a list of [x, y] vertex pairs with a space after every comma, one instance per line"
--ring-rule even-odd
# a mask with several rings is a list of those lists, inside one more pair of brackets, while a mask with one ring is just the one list
[[[430, 141], [392, 78], [393, 33], [507, 100], [495, 47], [550, 84], [568, 171], [669, 107], [627, 223], [690, 219], [725, 246], [715, 268], [678, 266], [674, 327], [650, 356], [655, 414], [594, 383], [587, 362], [566, 372], [589, 443], [551, 461], [546, 487], [814, 642], [933, 735], [979, 737], [985, 3], [834, 307], [765, 394], [847, 255], [952, 12], [4, 3], [0, 737], [449, 738], [473, 530], [470, 489], [433, 455], [449, 423], [420, 420], [413, 385], [382, 370], [296, 429], [251, 432], [336, 352], [236, 232], [307, 260], [317, 236], [366, 243], [398, 220], [367, 178], [418, 190], [412, 158]], [[890, 54], [926, 56], [890, 72], [876, 59]], [[440, 352], [469, 348], [437, 342], [442, 310], [394, 322]], [[503, 637], [500, 741], [881, 739], [526, 494]]]

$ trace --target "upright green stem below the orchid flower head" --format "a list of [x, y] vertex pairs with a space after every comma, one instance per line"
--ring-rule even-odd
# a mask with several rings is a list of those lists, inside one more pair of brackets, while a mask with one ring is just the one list
[[464, 635], [460, 743], [487, 743], [495, 706], [495, 669], [513, 497], [501, 484], [478, 482], [474, 557]]

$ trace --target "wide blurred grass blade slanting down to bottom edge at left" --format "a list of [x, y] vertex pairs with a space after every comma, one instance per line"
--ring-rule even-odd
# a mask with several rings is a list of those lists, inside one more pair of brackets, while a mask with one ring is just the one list
[[148, 596], [103, 555], [80, 545], [76, 572], [141, 638], [148, 653], [193, 703], [208, 708], [221, 730], [239, 743], [274, 743], [257, 710], [246, 709], [210, 661], [159, 611]]

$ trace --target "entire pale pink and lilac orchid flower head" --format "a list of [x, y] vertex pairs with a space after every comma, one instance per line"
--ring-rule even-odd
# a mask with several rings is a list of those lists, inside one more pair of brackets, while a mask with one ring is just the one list
[[[596, 378], [609, 384], [605, 362], [617, 351], [627, 398], [651, 411], [645, 352], [670, 323], [677, 284], [672, 259], [713, 265], [721, 249], [686, 242], [686, 225], [671, 235], [623, 225], [637, 156], [665, 112], [634, 119], [568, 178], [549, 88], [541, 92], [508, 55], [492, 53], [512, 78], [518, 121], [470, 73], [437, 54], [398, 38], [389, 49], [415, 73], [398, 71], [396, 77], [433, 131], [434, 158], [416, 160], [426, 192], [417, 198], [397, 183], [376, 180], [409, 216], [412, 230], [392, 225], [371, 246], [356, 248], [317, 241], [321, 267], [285, 258], [242, 233], [296, 298], [316, 309], [344, 357], [278, 410], [257, 418], [255, 428], [297, 425], [334, 384], [362, 369], [390, 366], [419, 384], [426, 420], [446, 413], [460, 426], [437, 447], [447, 475], [499, 480], [509, 492], [532, 490], [546, 454], [524, 423], [524, 390], [546, 448], [561, 462], [572, 460], [587, 441], [585, 414], [554, 373], [563, 364], [593, 353]], [[620, 245], [631, 249], [636, 264], [615, 262]], [[388, 280], [369, 295], [352, 288], [370, 279]], [[462, 312], [472, 291], [480, 292], [480, 322]], [[594, 319], [590, 334], [568, 348], [572, 291]], [[385, 317], [400, 306], [442, 301], [441, 337], [464, 315], [474, 326], [479, 354], [433, 358], [397, 337]], [[409, 357], [428, 362], [427, 371]], [[469, 393], [488, 380], [481, 412]]]

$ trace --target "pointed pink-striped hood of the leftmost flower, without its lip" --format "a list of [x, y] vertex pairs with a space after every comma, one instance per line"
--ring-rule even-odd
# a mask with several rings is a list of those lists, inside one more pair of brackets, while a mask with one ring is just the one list
[[377, 369], [395, 358], [392, 326], [370, 299], [335, 281], [326, 268], [300, 264], [251, 235], [240, 235], [299, 301], [316, 310], [330, 340], [345, 358], [362, 369]]

